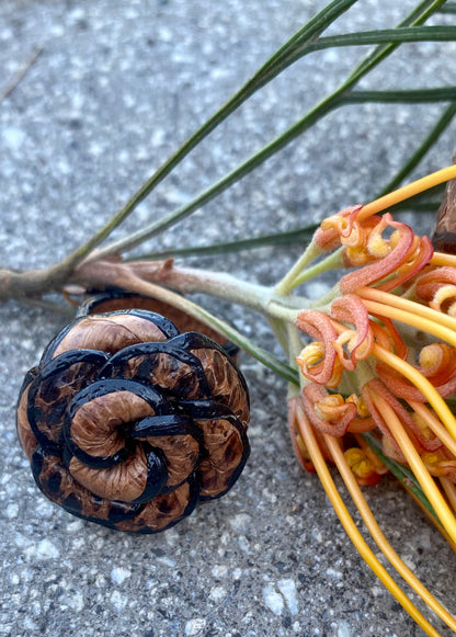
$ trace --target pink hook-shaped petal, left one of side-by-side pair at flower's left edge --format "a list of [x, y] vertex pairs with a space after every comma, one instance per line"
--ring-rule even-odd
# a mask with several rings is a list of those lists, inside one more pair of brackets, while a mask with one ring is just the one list
[[[317, 342], [322, 342], [324, 345], [324, 360], [321, 364], [315, 367], [315, 374], [310, 369], [306, 369], [301, 366], [305, 376], [311, 380], [326, 385], [332, 378], [334, 372], [335, 363], [335, 351], [332, 343], [338, 338], [335, 329], [331, 322], [331, 319], [323, 312], [308, 309], [299, 312], [296, 319], [296, 327], [309, 334]], [[299, 360], [297, 360], [299, 364]]]

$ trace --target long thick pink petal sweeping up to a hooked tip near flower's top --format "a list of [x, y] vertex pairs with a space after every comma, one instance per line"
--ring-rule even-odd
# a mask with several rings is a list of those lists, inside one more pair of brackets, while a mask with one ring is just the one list
[[399, 240], [397, 244], [391, 252], [383, 259], [379, 259], [369, 265], [365, 265], [355, 272], [345, 274], [339, 283], [339, 287], [343, 294], [356, 292], [360, 287], [381, 281], [381, 278], [395, 273], [407, 259], [414, 242], [413, 230], [409, 226], [406, 226], [406, 224], [398, 224], [397, 221], [391, 220], [389, 220], [388, 226], [395, 227], [399, 231]]

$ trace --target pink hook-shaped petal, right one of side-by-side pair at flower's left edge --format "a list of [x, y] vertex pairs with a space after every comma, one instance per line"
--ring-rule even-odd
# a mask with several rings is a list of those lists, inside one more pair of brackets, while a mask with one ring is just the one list
[[[351, 350], [351, 361], [353, 365], [356, 365], [357, 360], [364, 360], [368, 356], [368, 353], [374, 343], [374, 335], [371, 330], [369, 315], [362, 302], [362, 299], [355, 294], [346, 294], [343, 297], [335, 298], [331, 304], [330, 310], [331, 317], [341, 322], [349, 322], [355, 327], [356, 330], [356, 341]], [[358, 356], [357, 349], [361, 345], [367, 345], [364, 348], [363, 353]], [[343, 364], [343, 361], [341, 361]]]

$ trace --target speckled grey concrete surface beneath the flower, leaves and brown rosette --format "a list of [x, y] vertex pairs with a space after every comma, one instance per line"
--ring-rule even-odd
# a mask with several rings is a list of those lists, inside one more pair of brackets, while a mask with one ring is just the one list
[[[0, 103], [1, 265], [43, 266], [82, 242], [322, 5], [2, 0], [0, 92], [44, 48]], [[412, 5], [360, 0], [338, 29], [392, 25]], [[455, 53], [454, 45], [410, 45], [365, 86], [449, 83]], [[327, 52], [289, 69], [192, 153], [122, 231], [185, 202], [260, 148], [335, 87], [357, 56]], [[153, 246], [289, 229], [366, 201], [441, 109], [369, 105], [333, 113]], [[417, 174], [449, 163], [454, 150], [453, 127]], [[432, 226], [430, 218], [411, 219], [423, 231]], [[296, 254], [263, 249], [203, 265], [267, 283]], [[271, 345], [258, 317], [205, 303]], [[141, 537], [48, 503], [16, 442], [14, 405], [23, 374], [64, 322], [45, 309], [0, 306], [1, 636], [422, 635], [352, 548], [318, 479], [297, 466], [286, 433], [285, 384], [246, 357], [252, 454], [223, 500], [161, 535]], [[454, 556], [438, 533], [395, 484], [385, 481], [367, 497], [407, 564], [455, 611]]]

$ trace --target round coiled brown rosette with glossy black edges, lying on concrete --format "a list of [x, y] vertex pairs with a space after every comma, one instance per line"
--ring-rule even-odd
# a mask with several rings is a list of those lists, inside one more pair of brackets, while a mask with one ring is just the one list
[[227, 349], [152, 299], [86, 304], [20, 393], [18, 434], [39, 489], [79, 517], [136, 533], [226, 493], [250, 453], [249, 394]]

